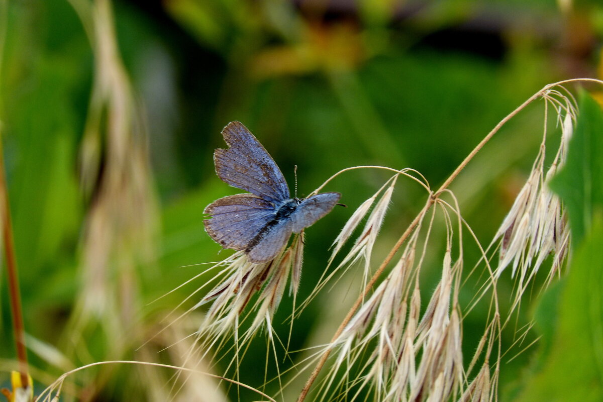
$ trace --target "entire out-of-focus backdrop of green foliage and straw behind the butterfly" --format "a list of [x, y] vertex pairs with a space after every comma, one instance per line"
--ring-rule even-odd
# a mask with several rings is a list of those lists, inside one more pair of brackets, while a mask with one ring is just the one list
[[[184, 301], [207, 275], [156, 299], [204, 269], [190, 265], [227, 255], [204, 232], [203, 209], [238, 192], [213, 168], [228, 122], [247, 125], [291, 190], [298, 166], [299, 196], [357, 165], [414, 168], [437, 187], [545, 84], [603, 78], [602, 38], [603, 6], [595, 0], [0, 0], [0, 133], [36, 391], [101, 360], [192, 364], [182, 339], [202, 313], [161, 330], [169, 311], [200, 300], [203, 292]], [[452, 187], [482, 243], [525, 181], [543, 116], [542, 102], [523, 111]], [[350, 213], [388, 177], [354, 171], [329, 184], [350, 208], [307, 231], [298, 300], [324, 271]], [[423, 190], [399, 180], [375, 260], [424, 202]], [[434, 275], [425, 272], [426, 297], [438, 261], [428, 259]], [[355, 274], [295, 322], [292, 350], [330, 339], [355, 298]], [[7, 370], [14, 347], [1, 278]], [[507, 279], [503, 303], [513, 286]], [[468, 302], [472, 292], [469, 286], [461, 298]], [[531, 305], [526, 300], [505, 334], [508, 345]], [[274, 320], [284, 338], [289, 312], [285, 300]], [[487, 306], [466, 318], [467, 360], [486, 315]], [[257, 366], [266, 360], [265, 341], [257, 343], [239, 377], [252, 386], [264, 382]], [[502, 400], [521, 387], [534, 351], [504, 366]], [[207, 369], [223, 374], [227, 360], [217, 364]], [[168, 400], [171, 374], [95, 368], [64, 392], [87, 401]], [[6, 386], [8, 372], [0, 379]], [[213, 395], [208, 378], [197, 380], [178, 398], [251, 400], [227, 386]], [[266, 391], [276, 389], [271, 383]]]

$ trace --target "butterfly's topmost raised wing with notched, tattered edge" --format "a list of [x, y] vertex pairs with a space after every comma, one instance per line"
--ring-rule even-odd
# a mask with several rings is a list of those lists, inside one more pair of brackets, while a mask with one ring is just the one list
[[234, 121], [222, 130], [229, 149], [213, 153], [218, 177], [272, 203], [289, 198], [289, 187], [279, 166], [247, 127]]

